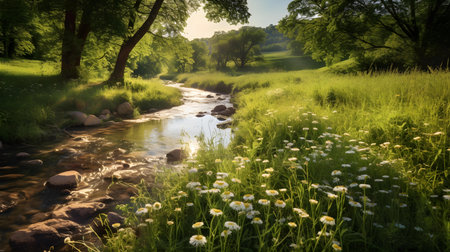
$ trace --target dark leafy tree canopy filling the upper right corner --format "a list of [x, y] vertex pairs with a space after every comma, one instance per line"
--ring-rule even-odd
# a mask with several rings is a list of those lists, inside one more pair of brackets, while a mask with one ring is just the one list
[[426, 66], [450, 56], [447, 0], [294, 0], [288, 10], [280, 29], [316, 59], [389, 57]]

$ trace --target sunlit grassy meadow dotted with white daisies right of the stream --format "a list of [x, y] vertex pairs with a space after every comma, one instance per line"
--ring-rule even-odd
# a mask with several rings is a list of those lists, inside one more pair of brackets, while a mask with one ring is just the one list
[[93, 251], [446, 251], [450, 72], [194, 73], [232, 92], [231, 146], [204, 139], [119, 209]]

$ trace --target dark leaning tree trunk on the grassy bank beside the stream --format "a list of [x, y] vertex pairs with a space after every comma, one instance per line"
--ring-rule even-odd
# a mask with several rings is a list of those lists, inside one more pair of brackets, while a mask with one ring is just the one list
[[111, 73], [111, 76], [109, 77], [108, 82], [109, 83], [123, 83], [124, 81], [124, 74], [125, 74], [125, 66], [128, 60], [128, 56], [130, 55], [131, 51], [134, 49], [134, 47], [137, 45], [137, 43], [144, 37], [144, 35], [148, 32], [151, 25], [155, 21], [156, 17], [158, 16], [158, 12], [161, 9], [162, 3], [164, 0], [156, 0], [153, 4], [152, 10], [150, 14], [148, 15], [147, 19], [145, 20], [144, 24], [142, 24], [141, 27], [136, 31], [136, 33], [124, 40], [122, 43], [122, 46], [120, 47], [119, 54], [117, 55], [116, 64], [114, 66], [114, 70]]

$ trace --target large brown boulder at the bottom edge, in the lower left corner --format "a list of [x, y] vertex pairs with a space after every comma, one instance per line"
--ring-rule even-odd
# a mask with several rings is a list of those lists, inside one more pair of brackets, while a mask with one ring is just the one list
[[44, 251], [64, 244], [66, 237], [82, 232], [82, 227], [70, 220], [50, 219], [15, 231], [9, 237], [12, 251]]

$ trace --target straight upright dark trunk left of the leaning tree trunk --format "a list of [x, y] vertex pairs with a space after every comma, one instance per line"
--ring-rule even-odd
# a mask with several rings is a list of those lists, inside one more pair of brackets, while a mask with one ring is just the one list
[[79, 77], [79, 72], [75, 64], [76, 53], [74, 52], [77, 5], [77, 0], [66, 0], [65, 2], [64, 35], [61, 54], [61, 76], [64, 79], [76, 79]]

